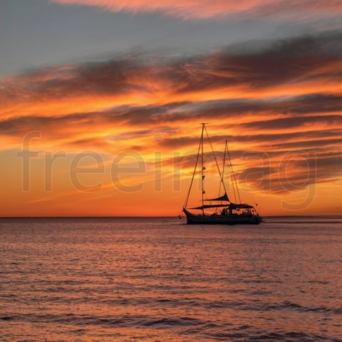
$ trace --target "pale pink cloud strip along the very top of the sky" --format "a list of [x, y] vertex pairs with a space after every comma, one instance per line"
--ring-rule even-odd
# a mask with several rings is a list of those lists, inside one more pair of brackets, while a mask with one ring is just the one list
[[182, 19], [211, 19], [231, 14], [254, 14], [266, 16], [269, 14], [295, 15], [298, 12], [313, 16], [318, 11], [322, 14], [341, 12], [341, 1], [336, 0], [185, 0], [185, 1], [145, 1], [145, 0], [53, 0], [58, 4], [95, 6], [105, 11], [127, 11], [129, 13], [160, 12]]

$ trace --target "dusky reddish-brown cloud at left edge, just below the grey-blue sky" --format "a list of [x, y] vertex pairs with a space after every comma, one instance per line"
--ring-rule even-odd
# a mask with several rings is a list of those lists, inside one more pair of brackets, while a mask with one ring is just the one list
[[[28, 71], [7, 78], [0, 88], [1, 100], [49, 100], [93, 94], [120, 95], [135, 90], [133, 76], [139, 73], [134, 58], [105, 63], [86, 63]], [[141, 71], [140, 71], [141, 73]], [[145, 71], [148, 75], [148, 71]], [[144, 90], [137, 85], [136, 88]], [[24, 95], [24, 98], [23, 98]]]

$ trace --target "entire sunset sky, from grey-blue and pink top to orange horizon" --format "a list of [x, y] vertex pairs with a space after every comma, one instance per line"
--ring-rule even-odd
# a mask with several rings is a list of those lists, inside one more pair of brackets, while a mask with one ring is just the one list
[[[341, 16], [335, 0], [2, 0], [0, 216], [177, 216], [201, 123], [261, 215], [341, 214]], [[209, 145], [204, 164], [216, 197]]]

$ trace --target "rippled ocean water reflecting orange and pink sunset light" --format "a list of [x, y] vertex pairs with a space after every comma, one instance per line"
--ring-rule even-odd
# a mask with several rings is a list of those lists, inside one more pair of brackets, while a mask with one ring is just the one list
[[0, 219], [0, 341], [342, 341], [342, 217]]

